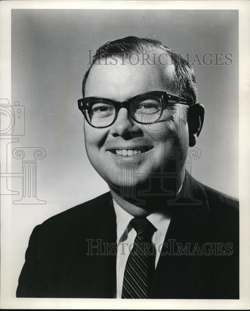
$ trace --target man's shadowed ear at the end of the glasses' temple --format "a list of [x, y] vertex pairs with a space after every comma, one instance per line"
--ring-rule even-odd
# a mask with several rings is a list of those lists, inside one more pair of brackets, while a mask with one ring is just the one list
[[203, 104], [194, 104], [189, 107], [187, 123], [189, 132], [189, 146], [195, 146], [204, 122], [205, 108]]

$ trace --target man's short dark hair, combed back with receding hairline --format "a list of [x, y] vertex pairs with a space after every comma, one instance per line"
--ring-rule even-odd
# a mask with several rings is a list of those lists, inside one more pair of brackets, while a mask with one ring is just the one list
[[98, 60], [107, 58], [111, 55], [121, 58], [121, 55], [124, 54], [128, 55], [129, 53], [135, 52], [145, 53], [151, 48], [161, 49], [171, 57], [172, 63], [175, 66], [175, 80], [173, 81], [172, 88], [174, 89], [176, 95], [184, 97], [185, 99], [190, 100], [193, 102], [193, 104], [195, 104], [197, 88], [194, 70], [190, 64], [185, 59], [183, 59], [180, 54], [175, 53], [160, 41], [132, 36], [109, 41], [96, 50], [92, 63], [83, 78], [83, 97], [85, 93], [85, 84], [89, 76], [90, 69]]

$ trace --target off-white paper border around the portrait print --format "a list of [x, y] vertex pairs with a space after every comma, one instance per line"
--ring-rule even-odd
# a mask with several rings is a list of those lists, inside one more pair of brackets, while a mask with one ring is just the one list
[[[98, 6], [97, 6], [98, 2]], [[249, 309], [250, 295], [250, 2], [249, 1], [1, 1], [0, 96], [11, 98], [11, 9], [180, 9], [239, 11], [240, 299], [16, 298], [11, 292], [11, 198], [1, 198], [1, 309]]]

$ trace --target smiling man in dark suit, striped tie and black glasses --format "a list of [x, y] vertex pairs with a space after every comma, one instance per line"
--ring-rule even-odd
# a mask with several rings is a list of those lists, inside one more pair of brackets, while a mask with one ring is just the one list
[[196, 93], [193, 69], [159, 41], [97, 50], [78, 105], [110, 192], [35, 227], [17, 297], [239, 298], [238, 201], [190, 175]]

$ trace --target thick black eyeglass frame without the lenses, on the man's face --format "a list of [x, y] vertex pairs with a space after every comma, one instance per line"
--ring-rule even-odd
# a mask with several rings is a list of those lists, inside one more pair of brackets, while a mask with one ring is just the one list
[[[176, 96], [176, 95], [164, 92], [164, 91], [144, 92], [144, 93], [138, 94], [136, 96], [133, 96], [132, 98], [130, 98], [130, 99], [126, 100], [126, 101], [123, 101], [123, 102], [118, 102], [118, 101], [107, 99], [107, 98], [103, 98], [103, 97], [95, 97], [95, 96], [92, 97], [92, 96], [90, 96], [90, 97], [84, 97], [84, 98], [81, 98], [81, 99], [77, 100], [77, 103], [78, 103], [79, 110], [82, 112], [82, 114], [84, 115], [85, 120], [89, 123], [89, 125], [91, 125], [93, 128], [108, 128], [109, 126], [111, 126], [112, 124], [115, 123], [115, 121], [117, 119], [117, 116], [118, 116], [118, 112], [119, 112], [119, 110], [121, 108], [126, 108], [127, 111], [129, 112], [128, 107], [131, 107], [131, 102], [136, 100], [137, 98], [139, 99], [140, 97], [145, 96], [146, 94], [158, 97], [158, 98], [163, 100], [163, 103], [161, 104], [161, 106], [162, 106], [161, 107], [161, 114], [160, 114], [159, 118], [156, 121], [145, 123], [145, 122], [138, 121], [136, 118], [134, 118], [133, 114], [129, 113], [130, 118], [132, 118], [132, 120], [134, 120], [135, 122], [137, 122], [139, 124], [153, 124], [153, 123], [157, 123], [159, 121], [159, 119], [161, 118], [161, 116], [162, 116], [163, 109], [164, 109], [163, 106], [170, 106], [171, 103], [172, 104], [183, 104], [183, 105], [188, 105], [188, 106], [194, 104], [192, 101], [188, 101], [188, 100], [186, 100], [183, 97]], [[159, 97], [159, 96], [157, 96], [157, 94], [161, 95], [161, 96]], [[93, 125], [93, 124], [91, 124], [89, 122], [87, 114], [86, 114], [86, 108], [85, 107], [86, 107], [86, 104], [89, 102], [90, 99], [92, 99], [92, 100], [99, 100], [100, 102], [105, 101], [105, 102], [109, 102], [110, 104], [114, 105], [115, 116], [114, 116], [114, 120], [112, 121], [112, 123], [110, 123], [109, 125], [105, 125], [105, 126], [96, 126], [96, 125]]]

